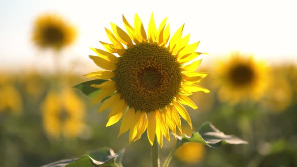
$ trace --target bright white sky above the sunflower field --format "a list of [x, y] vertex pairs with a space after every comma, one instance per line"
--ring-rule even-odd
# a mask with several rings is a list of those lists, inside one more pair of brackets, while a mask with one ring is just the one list
[[50, 52], [41, 52], [31, 43], [34, 19], [44, 12], [56, 12], [79, 30], [75, 45], [63, 51], [65, 66], [77, 60], [93, 67], [89, 47], [103, 48], [99, 40], [109, 42], [104, 27], [110, 22], [124, 29], [122, 14], [132, 24], [137, 13], [147, 30], [154, 12], [157, 26], [168, 17], [171, 34], [185, 23], [183, 35], [190, 42], [201, 41], [197, 51], [203, 58], [239, 51], [268, 62], [297, 61], [297, 24], [295, 1], [0, 1], [0, 68], [22, 69], [30, 66], [50, 68]]

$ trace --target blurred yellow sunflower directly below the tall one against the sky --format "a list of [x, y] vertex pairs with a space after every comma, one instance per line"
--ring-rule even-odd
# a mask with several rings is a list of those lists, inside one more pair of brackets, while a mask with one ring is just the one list
[[71, 89], [51, 91], [42, 104], [43, 126], [53, 138], [76, 137], [84, 127], [84, 103]]

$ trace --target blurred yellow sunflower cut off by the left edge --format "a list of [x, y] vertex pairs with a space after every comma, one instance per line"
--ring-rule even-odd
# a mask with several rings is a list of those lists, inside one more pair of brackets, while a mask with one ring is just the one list
[[22, 107], [22, 97], [13, 86], [13, 79], [6, 74], [0, 74], [0, 113], [9, 111], [20, 114]]

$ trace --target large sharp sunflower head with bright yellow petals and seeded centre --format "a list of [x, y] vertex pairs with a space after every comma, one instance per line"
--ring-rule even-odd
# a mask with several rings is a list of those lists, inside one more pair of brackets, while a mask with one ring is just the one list
[[199, 42], [188, 45], [190, 35], [182, 37], [184, 25], [169, 40], [167, 18], [157, 30], [152, 14], [147, 34], [137, 14], [134, 28], [122, 18], [127, 33], [111, 23], [112, 31], [105, 28], [111, 43], [100, 41], [106, 51], [91, 48], [98, 56], [90, 58], [105, 70], [85, 76], [107, 80], [101, 85], [91, 85], [102, 89], [91, 103], [101, 103], [110, 97], [99, 108], [99, 112], [112, 108], [106, 126], [123, 117], [119, 135], [130, 129], [129, 143], [138, 140], [147, 129], [150, 143], [153, 145], [156, 135], [162, 147], [163, 136], [170, 140], [169, 129], [174, 134], [177, 129], [181, 131], [180, 116], [192, 127], [183, 105], [193, 109], [197, 106], [187, 96], [192, 92], [209, 92], [196, 85], [207, 75], [194, 72], [201, 60], [189, 63], [201, 54], [195, 52]]

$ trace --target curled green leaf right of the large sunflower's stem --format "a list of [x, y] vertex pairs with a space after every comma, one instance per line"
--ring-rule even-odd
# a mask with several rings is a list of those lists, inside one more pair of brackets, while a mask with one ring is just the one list
[[212, 148], [220, 147], [221, 144], [248, 144], [247, 141], [242, 140], [234, 135], [226, 135], [219, 131], [210, 122], [205, 122], [199, 128], [197, 132], [194, 132], [192, 136], [183, 134], [181, 137], [180, 146], [187, 142], [197, 142], [208, 145]]

